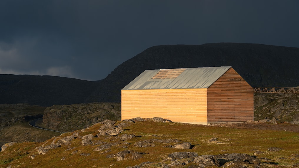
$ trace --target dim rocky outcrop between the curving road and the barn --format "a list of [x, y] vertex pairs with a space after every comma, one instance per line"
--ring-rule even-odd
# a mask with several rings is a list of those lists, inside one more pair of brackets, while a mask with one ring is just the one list
[[54, 105], [44, 111], [43, 127], [69, 132], [102, 120], [120, 120], [120, 103]]

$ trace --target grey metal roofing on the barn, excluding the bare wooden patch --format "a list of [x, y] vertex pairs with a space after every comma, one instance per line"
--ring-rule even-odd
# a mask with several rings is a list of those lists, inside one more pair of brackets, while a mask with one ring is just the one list
[[159, 79], [152, 77], [161, 70], [145, 70], [122, 90], [208, 88], [229, 68], [231, 67], [178, 68], [175, 70], [183, 72], [176, 78]]

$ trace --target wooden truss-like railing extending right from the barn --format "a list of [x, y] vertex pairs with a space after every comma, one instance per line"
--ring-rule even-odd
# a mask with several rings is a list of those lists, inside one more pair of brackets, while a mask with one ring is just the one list
[[256, 93], [299, 93], [299, 87], [254, 87]]

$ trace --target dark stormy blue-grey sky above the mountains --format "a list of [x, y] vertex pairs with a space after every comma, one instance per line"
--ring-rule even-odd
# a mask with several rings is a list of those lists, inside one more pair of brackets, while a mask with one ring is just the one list
[[96, 81], [155, 45], [217, 42], [299, 47], [299, 1], [0, 1], [0, 74]]

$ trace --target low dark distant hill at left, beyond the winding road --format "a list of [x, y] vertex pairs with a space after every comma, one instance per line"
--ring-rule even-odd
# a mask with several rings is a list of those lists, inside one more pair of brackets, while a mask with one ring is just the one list
[[58, 76], [0, 75], [0, 104], [27, 103], [47, 107], [82, 103], [98, 83]]

